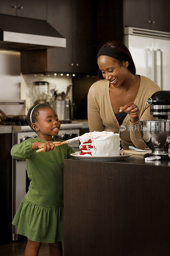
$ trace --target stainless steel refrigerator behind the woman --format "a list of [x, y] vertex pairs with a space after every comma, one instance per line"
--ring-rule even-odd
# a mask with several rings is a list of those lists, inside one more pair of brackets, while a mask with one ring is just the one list
[[125, 27], [124, 43], [134, 60], [136, 74], [150, 78], [162, 90], [170, 90], [170, 33]]

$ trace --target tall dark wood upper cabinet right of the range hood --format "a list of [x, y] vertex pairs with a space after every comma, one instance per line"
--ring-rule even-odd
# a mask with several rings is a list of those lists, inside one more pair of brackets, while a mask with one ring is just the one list
[[47, 22], [66, 38], [66, 48], [21, 52], [21, 72], [97, 74], [95, 13], [91, 0], [48, 0]]

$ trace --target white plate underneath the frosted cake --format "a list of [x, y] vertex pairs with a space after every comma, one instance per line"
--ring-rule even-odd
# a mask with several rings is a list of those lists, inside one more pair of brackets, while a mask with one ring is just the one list
[[81, 160], [97, 160], [97, 161], [112, 161], [112, 160], [121, 160], [126, 157], [132, 156], [132, 154], [124, 153], [123, 156], [84, 156], [84, 155], [78, 155], [79, 152], [75, 152], [70, 154], [71, 156], [74, 156], [76, 158], [79, 158]]

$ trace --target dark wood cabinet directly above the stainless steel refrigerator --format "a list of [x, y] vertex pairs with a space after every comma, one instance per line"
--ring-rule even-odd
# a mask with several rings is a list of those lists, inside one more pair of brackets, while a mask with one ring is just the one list
[[169, 0], [124, 0], [124, 26], [170, 32]]

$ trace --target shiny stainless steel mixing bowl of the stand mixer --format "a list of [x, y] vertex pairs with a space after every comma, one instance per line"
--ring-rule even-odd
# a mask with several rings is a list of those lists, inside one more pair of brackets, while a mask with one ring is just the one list
[[141, 141], [152, 150], [152, 154], [170, 157], [170, 120], [139, 121], [139, 126], [135, 125], [135, 131], [137, 129], [140, 129]]

